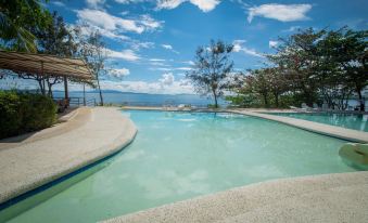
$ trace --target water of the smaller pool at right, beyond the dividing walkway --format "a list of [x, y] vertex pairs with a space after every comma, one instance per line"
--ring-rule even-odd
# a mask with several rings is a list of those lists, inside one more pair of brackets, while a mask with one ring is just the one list
[[267, 113], [368, 132], [368, 115], [322, 113]]

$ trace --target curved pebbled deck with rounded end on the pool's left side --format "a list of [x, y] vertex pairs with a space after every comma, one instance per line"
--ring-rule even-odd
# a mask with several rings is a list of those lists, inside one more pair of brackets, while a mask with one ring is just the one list
[[118, 152], [137, 132], [117, 108], [83, 107], [66, 119], [0, 141], [0, 204]]

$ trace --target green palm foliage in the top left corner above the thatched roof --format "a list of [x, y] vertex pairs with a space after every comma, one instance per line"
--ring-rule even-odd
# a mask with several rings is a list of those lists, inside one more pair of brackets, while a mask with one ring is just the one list
[[50, 22], [50, 13], [39, 0], [0, 1], [0, 48], [36, 52], [36, 37], [30, 29], [41, 30]]

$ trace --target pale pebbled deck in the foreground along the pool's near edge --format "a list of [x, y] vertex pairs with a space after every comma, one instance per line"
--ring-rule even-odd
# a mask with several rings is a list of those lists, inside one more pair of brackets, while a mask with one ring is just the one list
[[276, 180], [106, 222], [367, 222], [368, 172]]

